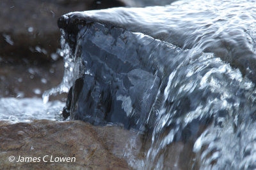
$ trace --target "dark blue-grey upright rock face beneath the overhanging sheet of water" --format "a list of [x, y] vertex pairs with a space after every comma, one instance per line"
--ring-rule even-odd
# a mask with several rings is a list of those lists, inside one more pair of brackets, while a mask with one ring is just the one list
[[[83, 38], [77, 39], [70, 37], [77, 34], [79, 25], [65, 27], [69, 32], [64, 35], [66, 41], [70, 46], [78, 45], [77, 56], [82, 57], [90, 73], [76, 80], [70, 89], [63, 117], [70, 115], [71, 120], [84, 120], [93, 125], [112, 122], [127, 129], [151, 129], [159, 107], [156, 101], [161, 100], [168, 81], [162, 77], [170, 73], [187, 52], [175, 46], [168, 48], [169, 43], [97, 22], [87, 24], [77, 35]], [[158, 89], [162, 89], [160, 94]]]

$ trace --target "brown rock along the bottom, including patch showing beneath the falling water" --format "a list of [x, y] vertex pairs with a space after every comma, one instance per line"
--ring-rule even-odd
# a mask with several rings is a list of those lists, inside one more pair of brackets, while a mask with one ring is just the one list
[[[140, 169], [147, 166], [141, 161], [145, 160], [151, 138], [116, 126], [50, 120], [17, 124], [0, 121], [0, 134], [2, 169]], [[191, 142], [172, 143], [164, 150], [163, 167], [198, 169], [192, 148]], [[43, 160], [45, 155], [49, 156], [44, 159], [48, 162]], [[13, 162], [11, 156], [15, 157]], [[27, 158], [20, 162], [22, 157], [40, 160]], [[56, 157], [75, 157], [76, 162], [50, 162]]]

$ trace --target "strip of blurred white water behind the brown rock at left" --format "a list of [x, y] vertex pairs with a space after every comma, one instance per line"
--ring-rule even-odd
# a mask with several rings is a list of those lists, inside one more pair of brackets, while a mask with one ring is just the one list
[[64, 105], [65, 103], [60, 101], [44, 104], [41, 98], [4, 97], [0, 99], [0, 120], [6, 120], [12, 124], [35, 119], [61, 121]]

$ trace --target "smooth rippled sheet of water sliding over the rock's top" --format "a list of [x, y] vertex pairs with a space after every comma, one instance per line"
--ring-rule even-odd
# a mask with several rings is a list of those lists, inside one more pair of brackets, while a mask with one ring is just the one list
[[[188, 12], [191, 5], [195, 6], [193, 13]], [[59, 27], [76, 32], [76, 26], [68, 22], [76, 18], [88, 23], [93, 21], [112, 25], [125, 31], [141, 32], [182, 49], [197, 48], [202, 52], [212, 52], [232, 67], [239, 68], [243, 75], [252, 81], [256, 81], [253, 76], [256, 73], [256, 57], [253, 50], [255, 33], [252, 29], [254, 25], [246, 22], [255, 15], [253, 8], [250, 5], [244, 6], [242, 1], [226, 6], [212, 1], [211, 4], [202, 7], [205, 11], [201, 10], [201, 6], [200, 2], [195, 2], [172, 6], [74, 12], [65, 15], [67, 24]], [[216, 8], [221, 9], [220, 13], [215, 12]], [[228, 14], [223, 10], [233, 8], [236, 10], [229, 11]], [[244, 10], [248, 11], [246, 15], [241, 14]], [[222, 29], [224, 31], [219, 31]], [[240, 48], [241, 46], [243, 48]]]

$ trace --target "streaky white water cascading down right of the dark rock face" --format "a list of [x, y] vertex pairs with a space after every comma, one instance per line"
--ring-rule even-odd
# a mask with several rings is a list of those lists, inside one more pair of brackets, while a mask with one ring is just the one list
[[[243, 162], [243, 145], [244, 142], [253, 143], [253, 129], [252, 133], [246, 132], [247, 135], [241, 131], [253, 122], [255, 95], [252, 81], [243, 78], [238, 69], [233, 69], [211, 53], [182, 62], [169, 76], [168, 86], [164, 90], [164, 103], [159, 110], [146, 161], [156, 162], [163, 169], [164, 159], [160, 158], [168, 154], [165, 153], [166, 147], [177, 138], [182, 138], [180, 134], [186, 138], [186, 134], [180, 132], [183, 129], [188, 129], [189, 134], [198, 131], [195, 121], [208, 117], [212, 118], [212, 123], [206, 127], [194, 146], [196, 153], [200, 153], [202, 146], [206, 147], [200, 153], [200, 167], [248, 169], [248, 166], [253, 166], [255, 158], [252, 151], [246, 155], [246, 164]], [[188, 111], [180, 112], [179, 105], [186, 101], [191, 101], [186, 103]], [[166, 127], [170, 131], [163, 135]], [[242, 146], [239, 144], [241, 138], [238, 137], [241, 133], [246, 138]], [[242, 152], [240, 157], [236, 155], [237, 152]], [[148, 167], [152, 166], [154, 164], [148, 164]]]

